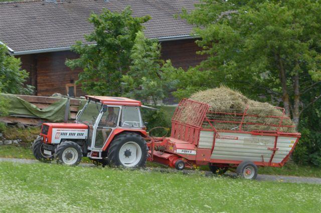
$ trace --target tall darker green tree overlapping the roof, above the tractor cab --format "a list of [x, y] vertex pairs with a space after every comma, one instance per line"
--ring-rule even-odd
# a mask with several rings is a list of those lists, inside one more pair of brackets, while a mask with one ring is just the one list
[[80, 55], [66, 60], [74, 69], [81, 67], [77, 83], [88, 94], [117, 96], [121, 91], [121, 77], [129, 69], [130, 51], [136, 33], [149, 16], [132, 17], [129, 7], [122, 12], [103, 9], [101, 14], [91, 14], [89, 21], [94, 30], [85, 35], [86, 43], [77, 41], [72, 50]]

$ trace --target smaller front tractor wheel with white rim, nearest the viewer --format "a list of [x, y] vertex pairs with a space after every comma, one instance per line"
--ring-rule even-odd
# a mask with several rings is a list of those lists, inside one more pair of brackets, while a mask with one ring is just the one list
[[81, 147], [73, 141], [64, 141], [60, 143], [55, 150], [55, 158], [57, 162], [61, 164], [78, 165], [81, 157]]

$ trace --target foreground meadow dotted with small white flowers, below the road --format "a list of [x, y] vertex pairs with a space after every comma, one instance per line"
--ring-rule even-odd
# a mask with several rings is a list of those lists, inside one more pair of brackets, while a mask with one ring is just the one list
[[1, 163], [2, 212], [318, 212], [321, 185]]

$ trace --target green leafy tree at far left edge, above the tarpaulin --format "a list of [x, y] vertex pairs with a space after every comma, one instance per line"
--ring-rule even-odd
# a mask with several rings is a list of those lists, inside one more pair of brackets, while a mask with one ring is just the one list
[[0, 92], [31, 94], [33, 86], [25, 85], [29, 73], [21, 69], [21, 60], [9, 54], [6, 45], [0, 44]]

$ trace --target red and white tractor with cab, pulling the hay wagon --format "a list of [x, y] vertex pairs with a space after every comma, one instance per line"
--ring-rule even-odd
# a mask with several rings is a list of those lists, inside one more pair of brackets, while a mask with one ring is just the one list
[[77, 165], [82, 156], [103, 165], [145, 165], [148, 148], [141, 102], [125, 97], [86, 98], [76, 123], [43, 123], [33, 143], [34, 156], [68, 165]]

